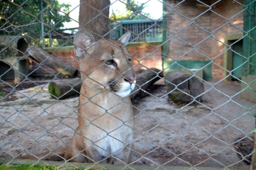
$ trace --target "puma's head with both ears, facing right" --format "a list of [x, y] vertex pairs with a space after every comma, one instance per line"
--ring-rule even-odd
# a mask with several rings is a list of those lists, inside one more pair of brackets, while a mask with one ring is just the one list
[[[86, 29], [79, 30], [74, 37], [75, 55], [79, 58], [81, 77], [88, 76], [93, 89], [106, 89], [125, 98], [134, 89], [136, 73], [131, 68], [131, 57], [124, 45], [131, 36], [126, 32], [118, 40], [95, 41]], [[92, 88], [90, 88], [91, 90]]]

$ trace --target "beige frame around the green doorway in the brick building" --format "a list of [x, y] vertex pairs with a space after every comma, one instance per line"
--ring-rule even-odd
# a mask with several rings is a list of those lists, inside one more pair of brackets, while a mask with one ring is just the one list
[[[226, 35], [224, 37], [224, 42], [227, 45], [231, 45], [232, 41], [234, 40], [239, 40], [240, 38], [243, 37], [243, 33], [241, 34], [232, 34], [232, 35]], [[228, 46], [224, 47], [224, 51], [228, 49]], [[223, 63], [223, 67], [228, 70], [231, 71], [233, 70], [233, 52], [231, 50], [228, 50], [224, 53], [224, 63]], [[224, 71], [223, 73], [223, 78], [226, 77], [227, 75], [229, 75], [229, 73], [227, 71]], [[227, 81], [232, 81], [232, 77], [229, 76], [227, 79]]]

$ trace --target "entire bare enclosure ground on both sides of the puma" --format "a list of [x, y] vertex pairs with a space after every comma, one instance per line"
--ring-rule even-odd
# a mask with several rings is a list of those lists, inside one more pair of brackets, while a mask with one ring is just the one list
[[[211, 87], [204, 85], [205, 90]], [[256, 112], [255, 103], [241, 99], [240, 94], [231, 99], [226, 96], [239, 92], [239, 83], [221, 82], [214, 87], [204, 94], [202, 104], [176, 105], [168, 96], [161, 97], [166, 93], [162, 80], [150, 91], [154, 96], [135, 98], [134, 164], [246, 165], [238, 153], [242, 152], [238, 142], [246, 139], [251, 145], [252, 140], [246, 134], [255, 126], [252, 115]], [[38, 154], [62, 142], [69, 143], [77, 127], [77, 114], [73, 110], [79, 98], [56, 101], [47, 90], [47, 85], [20, 90], [13, 94], [16, 100], [0, 103], [1, 157]]]

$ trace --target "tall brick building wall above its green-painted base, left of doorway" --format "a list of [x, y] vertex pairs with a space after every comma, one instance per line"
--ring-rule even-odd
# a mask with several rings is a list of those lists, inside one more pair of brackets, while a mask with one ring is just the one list
[[[205, 0], [203, 2], [211, 5], [216, 1]], [[166, 0], [166, 3], [171, 7], [179, 2]], [[242, 0], [238, 0], [238, 2], [243, 3]], [[171, 11], [173, 9], [171, 7], [166, 7], [166, 11]], [[213, 61], [223, 67], [224, 61], [221, 53], [224, 51], [224, 45], [221, 42], [224, 42], [226, 35], [242, 33], [239, 29], [243, 29], [243, 13], [238, 14], [226, 25], [227, 20], [217, 14], [229, 19], [242, 11], [243, 6], [232, 0], [222, 0], [212, 7], [212, 10], [217, 14], [212, 11], [205, 12], [207, 9], [209, 9], [207, 6], [196, 0], [189, 0], [177, 5], [175, 7], [176, 12], [172, 11], [166, 16], [166, 28], [168, 30], [166, 39], [171, 39], [167, 42], [168, 61], [177, 59], [205, 61], [219, 56]], [[191, 22], [192, 20], [198, 27]], [[221, 26], [223, 27], [218, 29]], [[212, 64], [212, 77], [215, 79], [223, 78], [223, 70], [215, 64]]]

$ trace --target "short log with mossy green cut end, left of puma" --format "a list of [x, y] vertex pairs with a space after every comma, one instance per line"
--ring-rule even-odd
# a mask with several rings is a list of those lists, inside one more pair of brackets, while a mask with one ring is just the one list
[[[53, 95], [52, 97], [59, 97], [64, 99], [66, 97], [79, 94], [82, 85], [81, 78], [68, 79], [68, 80], [57, 80], [52, 81], [48, 90]], [[55, 97], [54, 97], [55, 96]]]

